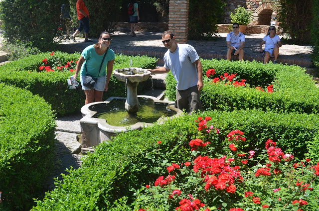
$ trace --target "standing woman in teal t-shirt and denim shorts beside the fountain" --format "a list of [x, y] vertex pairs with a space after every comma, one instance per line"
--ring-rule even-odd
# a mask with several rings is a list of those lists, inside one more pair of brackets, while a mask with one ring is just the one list
[[[115, 59], [114, 51], [109, 48], [110, 43], [111, 36], [109, 32], [102, 32], [100, 34], [99, 41], [96, 44], [90, 45], [83, 50], [76, 65], [73, 78], [76, 79], [81, 70], [80, 81], [85, 93], [85, 105], [102, 101], [103, 92], [107, 92], [109, 89], [109, 82]], [[104, 53], [106, 51], [107, 53], [102, 64], [101, 71], [99, 72]], [[107, 72], [105, 71], [106, 69]], [[85, 76], [92, 76], [93, 78], [98, 79], [93, 89], [83, 86]]]

